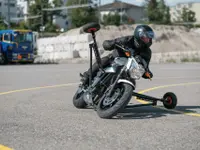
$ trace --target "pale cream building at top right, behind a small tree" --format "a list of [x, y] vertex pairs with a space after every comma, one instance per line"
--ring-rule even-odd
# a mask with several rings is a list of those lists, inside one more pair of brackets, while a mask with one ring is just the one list
[[194, 11], [196, 16], [196, 23], [200, 23], [200, 2], [178, 3], [177, 5], [171, 7], [171, 21], [181, 21], [181, 12], [184, 7]]

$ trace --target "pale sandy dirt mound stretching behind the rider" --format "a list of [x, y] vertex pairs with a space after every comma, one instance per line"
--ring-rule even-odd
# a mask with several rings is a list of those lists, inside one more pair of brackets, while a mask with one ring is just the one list
[[[137, 24], [117, 26], [101, 26], [96, 38], [100, 49], [104, 40], [132, 35]], [[150, 24], [156, 38], [151, 47], [153, 52], [177, 52], [200, 50], [200, 34], [196, 30], [189, 30], [184, 26], [168, 26]], [[61, 36], [82, 34], [81, 28], [70, 30]]]

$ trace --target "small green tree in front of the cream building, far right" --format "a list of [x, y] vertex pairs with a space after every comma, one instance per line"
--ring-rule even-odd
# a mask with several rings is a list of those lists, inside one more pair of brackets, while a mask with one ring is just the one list
[[181, 18], [183, 22], [195, 22], [196, 21], [195, 15], [196, 15], [195, 12], [189, 10], [186, 7], [182, 9]]

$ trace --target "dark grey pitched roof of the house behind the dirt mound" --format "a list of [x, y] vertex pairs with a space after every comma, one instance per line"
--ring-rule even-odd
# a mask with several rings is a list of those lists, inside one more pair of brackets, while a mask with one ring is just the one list
[[141, 8], [141, 6], [125, 3], [125, 2], [120, 2], [120, 1], [115, 1], [113, 3], [105, 4], [99, 7], [101, 11], [106, 11], [106, 10], [115, 10], [115, 9], [128, 9], [128, 8]]

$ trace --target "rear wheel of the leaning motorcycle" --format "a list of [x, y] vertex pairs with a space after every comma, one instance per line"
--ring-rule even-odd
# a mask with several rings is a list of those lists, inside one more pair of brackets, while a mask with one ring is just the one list
[[85, 108], [86, 103], [83, 99], [84, 96], [84, 90], [82, 86], [79, 86], [78, 90], [76, 91], [74, 97], [73, 97], [73, 104], [76, 108]]

